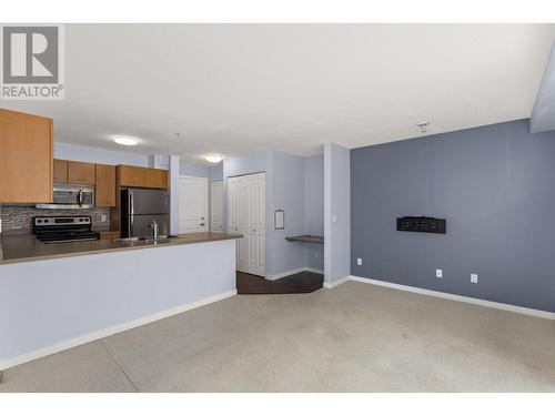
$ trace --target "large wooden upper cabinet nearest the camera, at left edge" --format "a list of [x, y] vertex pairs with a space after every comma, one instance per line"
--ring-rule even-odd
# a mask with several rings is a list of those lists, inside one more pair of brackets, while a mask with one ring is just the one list
[[0, 109], [0, 202], [52, 202], [52, 125]]

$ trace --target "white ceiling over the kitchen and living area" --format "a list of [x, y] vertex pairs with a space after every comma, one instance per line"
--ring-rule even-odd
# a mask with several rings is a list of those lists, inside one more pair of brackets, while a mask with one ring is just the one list
[[[555, 24], [71, 24], [65, 100], [3, 101], [56, 141], [321, 153], [527, 118]], [[179, 132], [180, 138], [175, 136]]]

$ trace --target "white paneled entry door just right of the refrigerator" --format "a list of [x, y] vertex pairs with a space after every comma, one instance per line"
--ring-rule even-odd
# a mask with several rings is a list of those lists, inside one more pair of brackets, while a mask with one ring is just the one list
[[208, 231], [208, 179], [179, 177], [179, 233]]

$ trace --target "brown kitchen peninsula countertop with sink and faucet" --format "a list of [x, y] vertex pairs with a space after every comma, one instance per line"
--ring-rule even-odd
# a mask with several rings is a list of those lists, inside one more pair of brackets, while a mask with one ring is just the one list
[[0, 265], [33, 262], [48, 258], [71, 257], [125, 250], [154, 248], [169, 245], [208, 243], [221, 240], [241, 239], [240, 234], [191, 233], [180, 234], [168, 240], [119, 242], [117, 240], [97, 240], [88, 242], [44, 244], [32, 234], [0, 234]]

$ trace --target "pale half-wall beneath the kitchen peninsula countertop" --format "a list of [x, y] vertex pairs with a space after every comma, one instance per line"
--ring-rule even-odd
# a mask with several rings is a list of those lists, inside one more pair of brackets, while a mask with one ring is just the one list
[[0, 369], [234, 293], [235, 240], [3, 264]]

